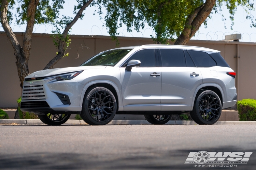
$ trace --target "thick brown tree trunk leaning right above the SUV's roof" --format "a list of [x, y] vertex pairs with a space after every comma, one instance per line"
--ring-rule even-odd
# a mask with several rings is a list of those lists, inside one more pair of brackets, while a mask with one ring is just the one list
[[211, 14], [215, 0], [206, 0], [205, 3], [192, 12], [186, 21], [181, 35], [176, 39], [174, 45], [186, 45], [191, 37], [199, 30], [201, 24]]

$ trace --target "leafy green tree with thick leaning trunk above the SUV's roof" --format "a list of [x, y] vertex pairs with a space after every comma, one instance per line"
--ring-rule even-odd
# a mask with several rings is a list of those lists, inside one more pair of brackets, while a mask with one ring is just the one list
[[186, 45], [201, 24], [206, 27], [211, 14], [221, 11], [224, 5], [230, 13], [231, 28], [239, 5], [247, 12], [246, 18], [251, 19], [252, 26], [256, 27], [254, 17], [250, 15], [250, 11], [254, 10], [250, 0], [112, 0], [111, 3], [98, 0], [98, 4], [100, 14], [102, 6], [107, 8], [104, 19], [112, 39], [117, 39], [117, 29], [122, 24], [131, 32], [132, 27], [137, 31], [143, 29], [146, 22], [154, 29], [156, 36], [151, 37], [156, 44], [166, 44], [169, 38], [172, 41], [176, 38], [174, 45]]

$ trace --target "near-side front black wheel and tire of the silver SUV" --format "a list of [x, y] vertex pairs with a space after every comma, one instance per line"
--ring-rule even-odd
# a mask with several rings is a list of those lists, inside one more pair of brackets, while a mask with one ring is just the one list
[[113, 93], [105, 87], [95, 87], [84, 96], [81, 117], [90, 125], [105, 125], [114, 118], [116, 109]]

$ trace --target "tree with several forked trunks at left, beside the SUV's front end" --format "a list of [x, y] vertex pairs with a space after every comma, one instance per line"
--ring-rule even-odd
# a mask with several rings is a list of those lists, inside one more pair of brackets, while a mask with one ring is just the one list
[[[74, 7], [75, 17], [63, 16], [59, 18], [59, 10], [63, 8], [65, 0], [18, 0], [21, 6], [17, 8], [17, 24], [26, 24], [26, 31], [22, 46], [19, 44], [13, 33], [10, 23], [13, 15], [10, 9], [14, 8], [14, 0], [0, 0], [0, 21], [4, 32], [10, 40], [16, 57], [16, 66], [20, 81], [20, 87], [23, 88], [23, 81], [29, 75], [28, 60], [32, 44], [32, 31], [34, 24], [53, 24], [57, 29], [53, 32], [54, 44], [58, 47], [56, 56], [45, 66], [44, 69], [52, 68], [65, 54], [66, 48], [70, 44], [70, 28], [79, 19], [83, 18], [83, 11], [92, 4], [93, 0], [77, 0], [78, 5]], [[61, 33], [60, 26], [64, 31]], [[18, 109], [15, 114], [18, 118]]]

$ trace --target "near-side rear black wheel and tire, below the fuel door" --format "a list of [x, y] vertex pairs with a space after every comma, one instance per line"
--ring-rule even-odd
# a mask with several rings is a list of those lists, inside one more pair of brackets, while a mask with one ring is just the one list
[[218, 95], [211, 90], [202, 91], [195, 99], [190, 116], [197, 124], [214, 124], [222, 112], [222, 103]]

